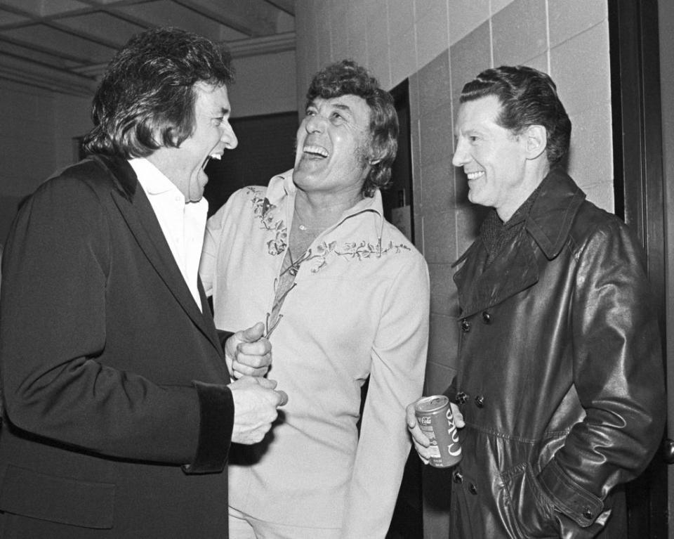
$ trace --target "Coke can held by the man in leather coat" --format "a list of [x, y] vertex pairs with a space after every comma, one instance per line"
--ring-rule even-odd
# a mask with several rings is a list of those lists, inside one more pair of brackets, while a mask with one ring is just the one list
[[449, 398], [433, 395], [414, 403], [414, 415], [421, 431], [430, 440], [429, 464], [436, 468], [449, 468], [461, 461], [461, 443], [451, 415]]

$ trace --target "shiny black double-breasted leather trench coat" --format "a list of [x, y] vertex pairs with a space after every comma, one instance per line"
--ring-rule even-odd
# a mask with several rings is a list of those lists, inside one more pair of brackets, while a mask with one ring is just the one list
[[621, 484], [645, 469], [665, 419], [640, 245], [553, 171], [522, 232], [486, 259], [478, 238], [454, 275], [448, 392], [466, 426], [451, 539], [626, 536]]

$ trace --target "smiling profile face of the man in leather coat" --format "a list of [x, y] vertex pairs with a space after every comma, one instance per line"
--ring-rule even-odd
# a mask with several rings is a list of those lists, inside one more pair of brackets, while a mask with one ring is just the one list
[[461, 103], [452, 164], [468, 177], [468, 200], [496, 208], [505, 221], [527, 197], [527, 155], [522, 137], [496, 123], [500, 111], [496, 96]]

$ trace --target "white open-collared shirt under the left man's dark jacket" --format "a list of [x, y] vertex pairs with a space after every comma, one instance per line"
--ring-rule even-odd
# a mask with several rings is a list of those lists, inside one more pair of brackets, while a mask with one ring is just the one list
[[176, 185], [146, 159], [131, 159], [128, 163], [136, 172], [138, 183], [152, 204], [173, 258], [176, 259], [180, 273], [183, 273], [185, 283], [201, 310], [197, 273], [201, 248], [204, 245], [209, 203], [205, 198], [201, 198], [199, 202], [185, 202], [185, 195]]

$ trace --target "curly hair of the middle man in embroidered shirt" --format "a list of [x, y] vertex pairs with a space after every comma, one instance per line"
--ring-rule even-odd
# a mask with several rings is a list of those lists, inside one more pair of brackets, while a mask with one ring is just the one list
[[[398, 115], [393, 97], [364, 67], [352, 60], [341, 60], [317, 72], [307, 91], [307, 106], [316, 98], [331, 99], [346, 95], [362, 97], [370, 108], [370, 148], [366, 159], [370, 171], [363, 183], [366, 197], [391, 181], [391, 165], [398, 150]], [[376, 163], [371, 161], [378, 160]]]

